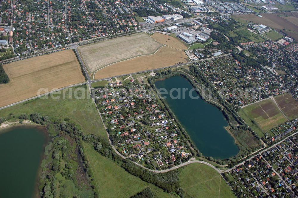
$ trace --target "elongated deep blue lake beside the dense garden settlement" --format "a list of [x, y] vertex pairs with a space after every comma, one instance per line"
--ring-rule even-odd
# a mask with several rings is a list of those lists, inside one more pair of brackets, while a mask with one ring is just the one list
[[[185, 99], [173, 99], [169, 94], [162, 96], [167, 96], [166, 103], [204, 156], [226, 159], [238, 153], [239, 149], [234, 138], [224, 129], [229, 124], [222, 112], [198, 97], [195, 91], [191, 95], [198, 99], [192, 99], [189, 91], [193, 89], [193, 86], [187, 79], [174, 76], [156, 81], [155, 86], [157, 89], [166, 89], [168, 93], [171, 89], [178, 88], [181, 96], [181, 90], [188, 89], [185, 92]], [[177, 91], [173, 91], [173, 96], [177, 95]]]

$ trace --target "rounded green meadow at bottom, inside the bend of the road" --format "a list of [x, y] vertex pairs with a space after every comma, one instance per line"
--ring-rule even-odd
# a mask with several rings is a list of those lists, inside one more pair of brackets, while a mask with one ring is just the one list
[[189, 197], [235, 197], [224, 179], [204, 164], [195, 163], [183, 168], [180, 185]]

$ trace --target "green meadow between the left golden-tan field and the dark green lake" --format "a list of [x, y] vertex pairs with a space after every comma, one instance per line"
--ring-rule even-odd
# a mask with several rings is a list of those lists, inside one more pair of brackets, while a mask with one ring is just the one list
[[102, 137], [107, 137], [103, 123], [100, 120], [92, 99], [87, 98], [90, 96], [89, 92], [87, 91], [87, 87], [79, 87], [82, 88], [82, 90], [85, 90], [85, 99], [75, 99], [74, 97], [69, 97], [70, 93], [73, 95], [73, 93], [76, 91], [76, 88], [77, 87], [66, 89], [65, 99], [62, 97], [63, 93], [61, 91], [60, 94], [53, 95], [55, 97], [60, 96], [60, 99], [53, 99], [51, 97], [48, 99], [38, 98], [6, 109], [2, 109], [0, 110], [0, 117], [7, 117], [10, 113], [13, 113], [15, 119], [18, 121], [18, 116], [20, 114], [32, 114], [34, 112], [39, 112], [42, 115], [56, 117], [57, 119], [61, 120], [64, 118], [69, 118], [82, 126], [84, 133], [97, 134]]

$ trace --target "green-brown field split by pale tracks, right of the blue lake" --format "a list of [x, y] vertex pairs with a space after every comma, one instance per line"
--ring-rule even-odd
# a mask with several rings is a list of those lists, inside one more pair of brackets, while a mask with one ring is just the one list
[[243, 119], [246, 123], [254, 123], [260, 127], [263, 132], [267, 132], [287, 120], [271, 99], [251, 104], [244, 107], [242, 110], [245, 114]]

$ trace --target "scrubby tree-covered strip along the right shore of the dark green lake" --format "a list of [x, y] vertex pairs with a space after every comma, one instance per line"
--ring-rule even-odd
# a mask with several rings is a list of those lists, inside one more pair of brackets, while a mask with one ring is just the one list
[[[55, 175], [60, 173], [65, 180], [71, 180], [75, 188], [79, 191], [94, 191], [94, 197], [97, 197], [95, 192], [95, 187], [92, 185], [90, 179], [90, 170], [88, 165], [88, 160], [83, 154], [83, 149], [81, 146], [81, 139], [83, 132], [79, 129], [75, 123], [60, 121], [60, 120], [50, 120], [48, 116], [41, 115], [40, 113], [32, 113], [30, 116], [27, 114], [21, 114], [19, 117], [21, 120], [29, 119], [35, 123], [46, 126], [49, 134], [51, 135], [51, 130], [56, 130], [59, 132], [57, 136], [52, 138], [51, 142], [45, 149], [45, 155], [43, 162], [41, 163], [42, 173], [39, 190], [40, 197], [50, 198], [56, 197], [57, 194], [57, 182], [61, 184], [63, 180], [57, 181]], [[68, 120], [68, 119], [66, 119]], [[83, 171], [77, 171], [78, 169]], [[79, 177], [87, 177], [83, 186], [79, 185], [77, 182], [77, 174]], [[64, 185], [60, 185], [60, 188], [64, 188]], [[67, 186], [65, 186], [67, 188]], [[69, 194], [64, 194], [63, 190], [59, 190], [60, 197], [69, 196]], [[68, 193], [68, 191], [65, 191]], [[73, 197], [80, 197], [78, 191], [73, 192]]]

